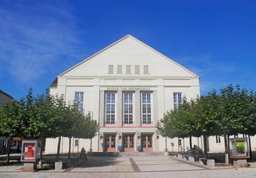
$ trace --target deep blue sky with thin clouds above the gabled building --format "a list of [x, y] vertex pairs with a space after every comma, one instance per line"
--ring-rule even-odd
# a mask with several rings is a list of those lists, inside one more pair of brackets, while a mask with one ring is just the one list
[[0, 0], [0, 90], [43, 93], [127, 34], [201, 77], [201, 94], [256, 90], [256, 1]]

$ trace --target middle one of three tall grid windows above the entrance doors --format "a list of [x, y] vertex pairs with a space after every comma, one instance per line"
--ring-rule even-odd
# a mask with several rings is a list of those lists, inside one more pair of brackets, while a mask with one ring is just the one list
[[133, 123], [134, 102], [133, 93], [124, 93], [124, 119], [125, 124]]

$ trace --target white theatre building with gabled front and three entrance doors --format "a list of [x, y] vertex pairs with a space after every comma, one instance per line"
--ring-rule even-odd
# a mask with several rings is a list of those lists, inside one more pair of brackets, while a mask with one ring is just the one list
[[[174, 151], [187, 150], [188, 139], [165, 139], [157, 133], [157, 121], [187, 99], [200, 95], [200, 77], [172, 59], [125, 36], [57, 76], [51, 94], [76, 101], [99, 122], [93, 139], [73, 138], [71, 151]], [[215, 140], [215, 138], [213, 137]], [[45, 153], [56, 153], [58, 139], [47, 139]], [[193, 145], [201, 148], [201, 139]], [[220, 151], [223, 148], [221, 147]], [[68, 138], [61, 142], [68, 152]]]

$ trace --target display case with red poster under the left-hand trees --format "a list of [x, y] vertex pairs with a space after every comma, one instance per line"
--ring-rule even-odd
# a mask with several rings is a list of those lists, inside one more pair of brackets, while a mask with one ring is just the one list
[[41, 148], [37, 140], [22, 140], [22, 162], [39, 161]]

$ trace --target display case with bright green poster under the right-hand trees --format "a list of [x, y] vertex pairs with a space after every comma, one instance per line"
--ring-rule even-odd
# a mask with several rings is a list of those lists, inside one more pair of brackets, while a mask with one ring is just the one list
[[248, 141], [246, 138], [229, 139], [230, 158], [249, 158]]

